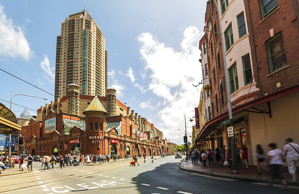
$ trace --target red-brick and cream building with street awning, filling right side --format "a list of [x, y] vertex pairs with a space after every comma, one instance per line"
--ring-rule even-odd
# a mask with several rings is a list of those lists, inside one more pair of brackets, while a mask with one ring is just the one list
[[[248, 148], [249, 164], [255, 164], [255, 145], [264, 150], [268, 143], [284, 146], [286, 138], [299, 140], [299, 13], [298, 1], [287, 0], [219, 0], [218, 7], [224, 36], [228, 82], [236, 145]], [[207, 2], [205, 29], [220, 32], [217, 7]], [[204, 44], [205, 43], [205, 44]], [[200, 41], [203, 77], [225, 80], [220, 35], [205, 31]], [[206, 56], [205, 56], [206, 55]], [[207, 72], [207, 73], [206, 73]], [[226, 85], [220, 79], [209, 79], [211, 89], [204, 92], [206, 123], [200, 138], [215, 138], [205, 147], [230, 147], [227, 137], [228, 102]], [[205, 85], [207, 85], [205, 83]], [[224, 94], [224, 95], [222, 95]], [[224, 102], [224, 103], [223, 103]], [[203, 117], [199, 115], [199, 117]]]

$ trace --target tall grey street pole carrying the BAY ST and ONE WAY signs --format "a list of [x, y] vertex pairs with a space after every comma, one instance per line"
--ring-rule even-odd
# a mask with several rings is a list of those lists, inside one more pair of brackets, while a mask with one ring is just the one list
[[[227, 100], [228, 100], [229, 126], [233, 127], [233, 113], [232, 113], [232, 110], [231, 110], [231, 90], [230, 90], [229, 81], [228, 81], [228, 72], [227, 72], [227, 65], [226, 65], [225, 48], [224, 48], [224, 40], [223, 40], [222, 25], [221, 25], [221, 16], [220, 16], [220, 11], [219, 11], [219, 6], [218, 6], [217, 1], [216, 0], [213, 0], [213, 1], [214, 1], [214, 5], [216, 5], [216, 8], [217, 8], [220, 33], [209, 31], [209, 30], [205, 30], [205, 31], [220, 34], [220, 37], [221, 37], [222, 54], [223, 54], [223, 62], [224, 62], [224, 72], [225, 72], [225, 82], [226, 82], [226, 88], [227, 88], [226, 91], [227, 91]], [[208, 3], [210, 3], [210, 1], [208, 1]], [[208, 88], [206, 88], [206, 89], [208, 90]], [[235, 137], [234, 136], [230, 137], [230, 139], [231, 139], [231, 152], [232, 152], [232, 160], [233, 160], [233, 173], [237, 173], [237, 155], [236, 155]]]

